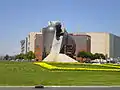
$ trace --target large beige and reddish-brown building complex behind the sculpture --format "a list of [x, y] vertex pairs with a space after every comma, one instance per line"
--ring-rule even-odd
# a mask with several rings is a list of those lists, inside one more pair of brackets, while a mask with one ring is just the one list
[[[76, 46], [74, 48], [76, 48], [76, 55], [79, 51], [86, 51], [93, 54], [102, 53], [107, 57], [120, 57], [119, 36], [106, 32], [69, 33], [69, 35], [75, 41]], [[42, 60], [44, 55], [43, 47], [46, 46], [46, 51], [50, 52], [52, 44], [52, 34], [46, 33], [46, 37], [46, 39], [43, 37], [42, 32], [30, 32], [25, 40], [20, 41], [21, 53], [33, 51], [36, 59]], [[43, 38], [45, 41], [43, 41]], [[43, 45], [43, 42], [46, 43]], [[68, 42], [73, 43], [72, 40], [68, 40]]]

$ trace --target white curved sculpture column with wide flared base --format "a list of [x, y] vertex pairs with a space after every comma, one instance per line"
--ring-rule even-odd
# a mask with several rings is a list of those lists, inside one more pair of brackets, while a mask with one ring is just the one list
[[[62, 31], [64, 32], [64, 30], [62, 30]], [[50, 54], [46, 58], [44, 58], [43, 61], [47, 61], [47, 62], [77, 62], [76, 60], [67, 56], [66, 54], [60, 53], [62, 40], [63, 40], [63, 36], [60, 36], [59, 40], [56, 39], [56, 30], [55, 30]]]

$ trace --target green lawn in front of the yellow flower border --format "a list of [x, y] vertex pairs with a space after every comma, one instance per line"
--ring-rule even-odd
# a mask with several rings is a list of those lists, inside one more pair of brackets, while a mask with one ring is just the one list
[[50, 72], [32, 62], [0, 62], [0, 85], [120, 85], [120, 72]]

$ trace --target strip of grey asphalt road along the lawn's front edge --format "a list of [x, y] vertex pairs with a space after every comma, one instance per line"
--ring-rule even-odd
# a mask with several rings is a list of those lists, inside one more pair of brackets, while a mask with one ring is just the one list
[[0, 90], [120, 90], [120, 87], [0, 87]]

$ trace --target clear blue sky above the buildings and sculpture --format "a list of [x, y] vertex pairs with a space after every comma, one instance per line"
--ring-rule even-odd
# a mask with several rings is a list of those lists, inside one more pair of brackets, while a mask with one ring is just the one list
[[0, 0], [0, 55], [20, 52], [20, 40], [59, 20], [68, 32], [120, 36], [120, 0]]

